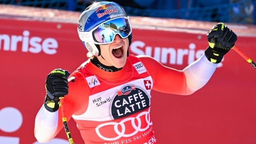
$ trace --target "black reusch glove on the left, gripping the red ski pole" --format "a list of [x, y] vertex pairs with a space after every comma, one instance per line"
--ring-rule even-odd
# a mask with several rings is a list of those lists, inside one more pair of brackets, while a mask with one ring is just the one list
[[59, 97], [69, 93], [68, 77], [70, 73], [62, 69], [55, 69], [46, 78], [45, 108], [54, 112], [59, 109]]

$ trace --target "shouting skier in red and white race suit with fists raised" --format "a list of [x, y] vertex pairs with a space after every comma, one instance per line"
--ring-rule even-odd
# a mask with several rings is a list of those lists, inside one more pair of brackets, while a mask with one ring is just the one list
[[237, 40], [219, 23], [208, 32], [209, 47], [199, 59], [182, 71], [169, 68], [152, 57], [128, 53], [130, 21], [115, 2], [87, 7], [78, 21], [78, 35], [90, 59], [70, 76], [62, 69], [47, 76], [45, 102], [35, 123], [38, 142], [50, 141], [63, 127], [59, 96], [65, 96], [66, 118], [76, 121], [85, 144], [156, 144], [151, 90], [180, 95], [199, 90]]

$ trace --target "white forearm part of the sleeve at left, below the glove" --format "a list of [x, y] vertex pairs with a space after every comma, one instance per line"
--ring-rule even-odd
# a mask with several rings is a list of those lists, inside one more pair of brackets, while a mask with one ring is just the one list
[[58, 126], [58, 111], [50, 112], [43, 105], [35, 120], [34, 134], [38, 142], [49, 142], [55, 137]]

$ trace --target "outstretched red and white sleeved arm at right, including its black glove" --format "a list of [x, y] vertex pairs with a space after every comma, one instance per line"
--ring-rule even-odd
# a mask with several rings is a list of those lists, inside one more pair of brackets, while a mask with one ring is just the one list
[[217, 64], [234, 47], [237, 35], [223, 23], [207, 33], [209, 47], [201, 58], [182, 71], [161, 65], [150, 57], [140, 57], [154, 80], [153, 89], [169, 94], [192, 94], [203, 87], [213, 75]]

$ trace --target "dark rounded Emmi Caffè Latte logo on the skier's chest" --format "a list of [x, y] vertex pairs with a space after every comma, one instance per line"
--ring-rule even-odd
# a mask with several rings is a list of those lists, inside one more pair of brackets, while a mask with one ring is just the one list
[[128, 85], [118, 91], [111, 103], [111, 115], [122, 118], [149, 107], [149, 96], [139, 87]]

